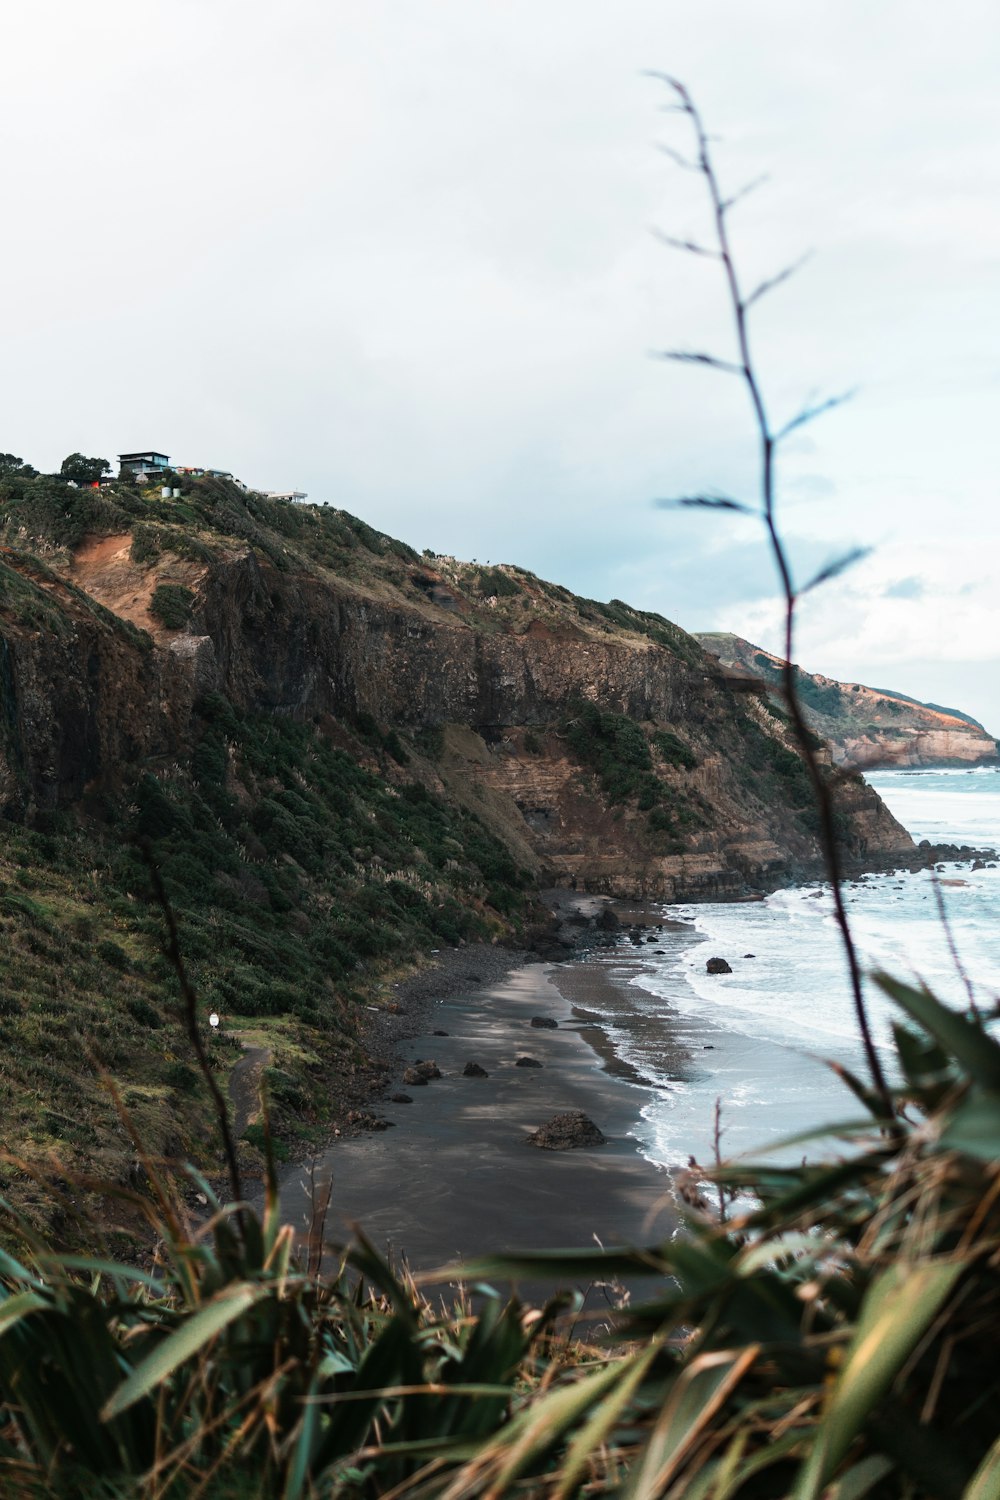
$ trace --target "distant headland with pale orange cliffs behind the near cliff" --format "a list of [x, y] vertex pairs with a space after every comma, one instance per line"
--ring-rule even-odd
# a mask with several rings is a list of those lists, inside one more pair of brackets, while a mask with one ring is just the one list
[[[774, 702], [783, 700], [781, 657], [741, 636], [703, 633], [699, 642], [735, 674], [765, 682]], [[997, 759], [997, 741], [978, 720], [904, 693], [838, 682], [796, 666], [805, 717], [831, 747], [837, 765], [987, 765]]]

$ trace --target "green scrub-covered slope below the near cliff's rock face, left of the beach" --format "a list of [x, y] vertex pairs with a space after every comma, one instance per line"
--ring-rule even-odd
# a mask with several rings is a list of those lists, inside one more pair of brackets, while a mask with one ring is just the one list
[[196, 724], [187, 758], [102, 795], [90, 818], [0, 830], [3, 1130], [18, 1143], [0, 1191], [64, 1239], [66, 1209], [36, 1179], [49, 1154], [130, 1180], [103, 1071], [147, 1152], [217, 1160], [144, 846], [199, 1002], [223, 1017], [213, 1064], [225, 1076], [240, 1042], [268, 1048], [288, 1152], [363, 1095], [363, 1002], [378, 1000], [379, 975], [525, 916], [531, 882], [504, 846], [420, 783], [393, 783], [388, 752], [349, 729], [334, 744], [313, 724], [240, 716], [219, 696]]

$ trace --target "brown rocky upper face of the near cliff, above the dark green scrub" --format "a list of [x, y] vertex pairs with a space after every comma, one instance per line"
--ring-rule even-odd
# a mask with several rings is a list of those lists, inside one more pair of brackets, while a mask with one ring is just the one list
[[[670, 898], [819, 870], [787, 726], [667, 621], [516, 568], [418, 558], [339, 512], [247, 508], [217, 486], [211, 507], [196, 544], [187, 514], [150, 501], [153, 542], [139, 520], [73, 546], [42, 537], [43, 564], [3, 554], [9, 816], [156, 774], [217, 693], [406, 735], [400, 776], [445, 789], [546, 879]], [[157, 614], [165, 586], [187, 600], [181, 627]], [[864, 784], [846, 784], [841, 812], [855, 861], [912, 849]]]

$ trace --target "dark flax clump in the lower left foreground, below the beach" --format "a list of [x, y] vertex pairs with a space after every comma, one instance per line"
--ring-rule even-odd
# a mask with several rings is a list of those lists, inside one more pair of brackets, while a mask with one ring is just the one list
[[297, 1264], [273, 1184], [258, 1216], [195, 1182], [192, 1233], [153, 1178], [148, 1272], [30, 1233], [0, 1254], [0, 1494], [382, 1494], [504, 1424], [565, 1299], [435, 1312], [364, 1240]]

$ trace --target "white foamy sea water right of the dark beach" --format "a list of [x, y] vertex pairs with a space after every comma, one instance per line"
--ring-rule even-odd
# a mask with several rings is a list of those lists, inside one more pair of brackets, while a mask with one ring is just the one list
[[[919, 842], [1000, 849], [1000, 771], [910, 770], [868, 777]], [[937, 894], [934, 890], [937, 880]], [[886, 969], [924, 981], [949, 1005], [967, 1005], [967, 982], [984, 1010], [1000, 993], [1000, 868], [972, 860], [943, 870], [852, 880], [844, 890], [868, 975]], [[960, 963], [940, 918], [945, 903]], [[748, 904], [664, 909], [643, 972], [618, 978], [621, 1002], [604, 1017], [622, 1059], [652, 1088], [637, 1140], [667, 1166], [694, 1156], [762, 1155], [799, 1160], [829, 1146], [805, 1137], [819, 1125], [856, 1120], [862, 1108], [829, 1062], [865, 1077], [858, 1020], [829, 886], [775, 891]], [[711, 975], [706, 960], [733, 972]], [[615, 958], [609, 960], [615, 970]], [[964, 970], [964, 972], [963, 972]], [[898, 1008], [867, 978], [865, 1002], [886, 1071]]]

